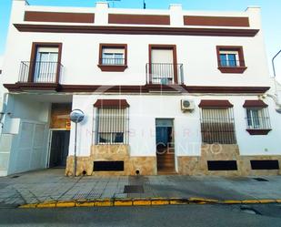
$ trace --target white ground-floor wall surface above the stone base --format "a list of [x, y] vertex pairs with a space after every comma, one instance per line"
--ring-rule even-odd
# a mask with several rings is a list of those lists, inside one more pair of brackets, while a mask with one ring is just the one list
[[[281, 141], [277, 139], [281, 133], [281, 115], [275, 110], [274, 101], [266, 98], [269, 105], [269, 116], [272, 131], [268, 135], [251, 136], [246, 131], [246, 110], [243, 104], [246, 99], [257, 99], [253, 96], [96, 96], [77, 95], [73, 99], [73, 108], [81, 108], [86, 115], [85, 121], [78, 126], [77, 155], [88, 156], [94, 141], [93, 127], [95, 124], [94, 103], [97, 98], [125, 98], [129, 108], [129, 144], [132, 156], [156, 155], [156, 118], [175, 119], [175, 143], [177, 156], [200, 155], [201, 129], [200, 109], [201, 99], [227, 99], [234, 105], [236, 125], [236, 139], [241, 155], [274, 155], [281, 154]], [[180, 109], [180, 100], [193, 99], [196, 103], [194, 112], [183, 113]], [[74, 141], [72, 127], [70, 141]], [[74, 143], [70, 143], [70, 154], [73, 154]]]

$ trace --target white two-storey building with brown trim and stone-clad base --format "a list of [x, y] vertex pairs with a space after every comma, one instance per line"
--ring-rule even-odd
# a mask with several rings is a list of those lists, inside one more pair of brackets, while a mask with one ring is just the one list
[[280, 173], [281, 116], [260, 8], [14, 0], [10, 23], [2, 175], [53, 166], [72, 175], [75, 125], [68, 116], [75, 108], [85, 112], [77, 175]]

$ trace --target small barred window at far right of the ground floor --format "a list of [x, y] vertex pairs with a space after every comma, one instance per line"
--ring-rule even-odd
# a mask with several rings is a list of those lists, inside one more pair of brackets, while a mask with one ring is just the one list
[[247, 129], [271, 129], [267, 108], [246, 108]]

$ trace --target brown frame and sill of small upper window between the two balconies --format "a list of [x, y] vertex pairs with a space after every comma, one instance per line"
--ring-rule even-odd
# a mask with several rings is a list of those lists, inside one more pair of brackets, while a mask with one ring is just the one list
[[[103, 49], [104, 48], [124, 48], [124, 65], [103, 65]], [[100, 44], [99, 45], [99, 56], [98, 65], [103, 72], [124, 72], [127, 68], [127, 45], [126, 44]]]

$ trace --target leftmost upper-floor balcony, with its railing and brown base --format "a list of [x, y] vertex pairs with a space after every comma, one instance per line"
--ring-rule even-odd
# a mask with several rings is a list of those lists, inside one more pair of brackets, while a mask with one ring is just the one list
[[25, 89], [56, 89], [59, 86], [63, 65], [49, 61], [22, 61], [17, 84]]

